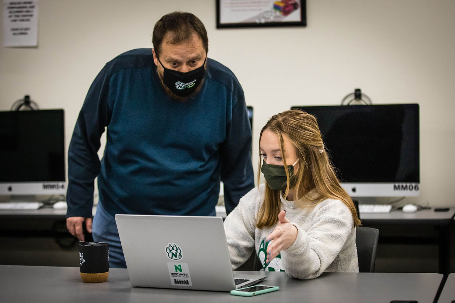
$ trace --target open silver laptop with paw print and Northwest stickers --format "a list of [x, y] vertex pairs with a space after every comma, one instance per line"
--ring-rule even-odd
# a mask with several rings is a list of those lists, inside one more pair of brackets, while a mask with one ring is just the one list
[[132, 286], [231, 291], [265, 280], [234, 277], [220, 217], [115, 215]]

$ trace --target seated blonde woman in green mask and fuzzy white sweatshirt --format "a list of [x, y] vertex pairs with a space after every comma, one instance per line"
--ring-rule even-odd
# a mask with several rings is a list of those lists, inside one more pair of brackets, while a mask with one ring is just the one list
[[261, 130], [259, 149], [258, 170], [266, 182], [243, 196], [224, 222], [233, 269], [256, 249], [264, 270], [292, 278], [359, 272], [360, 220], [339, 185], [316, 118], [300, 110], [274, 115]]

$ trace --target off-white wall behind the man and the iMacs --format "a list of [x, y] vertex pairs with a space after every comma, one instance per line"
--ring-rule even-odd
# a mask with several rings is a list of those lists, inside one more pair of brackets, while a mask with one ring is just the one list
[[406, 201], [455, 205], [454, 0], [307, 0], [306, 27], [223, 30], [213, 0], [40, 0], [39, 46], [0, 48], [0, 110], [24, 94], [64, 108], [68, 145], [103, 65], [152, 47], [153, 25], [174, 10], [202, 20], [209, 56], [240, 80], [254, 149], [268, 118], [292, 105], [339, 104], [355, 88], [374, 104], [418, 103], [421, 192]]

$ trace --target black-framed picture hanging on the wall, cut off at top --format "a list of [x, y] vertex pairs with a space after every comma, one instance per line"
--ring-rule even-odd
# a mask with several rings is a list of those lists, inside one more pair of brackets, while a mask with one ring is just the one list
[[306, 0], [216, 0], [217, 28], [306, 26]]

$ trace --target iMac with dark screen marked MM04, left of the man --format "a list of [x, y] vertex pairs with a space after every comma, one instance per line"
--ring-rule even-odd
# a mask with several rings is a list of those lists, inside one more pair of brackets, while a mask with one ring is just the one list
[[0, 195], [65, 194], [63, 109], [0, 112]]

